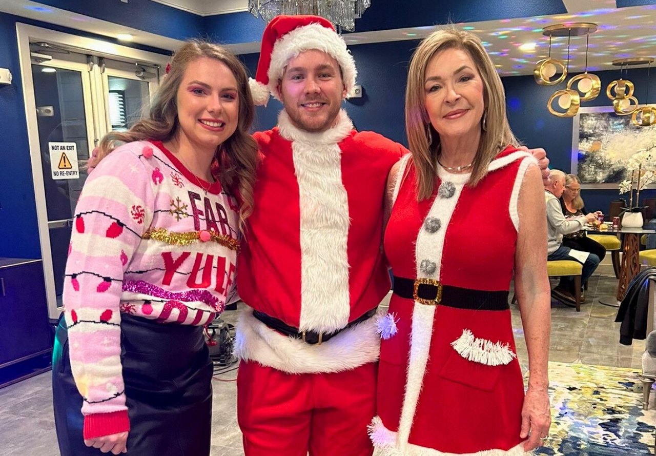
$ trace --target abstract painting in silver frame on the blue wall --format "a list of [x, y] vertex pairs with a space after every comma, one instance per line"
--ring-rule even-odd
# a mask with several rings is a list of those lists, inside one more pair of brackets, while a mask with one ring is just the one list
[[656, 144], [656, 125], [636, 127], [613, 106], [581, 108], [573, 121], [571, 173], [581, 188], [617, 188], [627, 178], [631, 155]]

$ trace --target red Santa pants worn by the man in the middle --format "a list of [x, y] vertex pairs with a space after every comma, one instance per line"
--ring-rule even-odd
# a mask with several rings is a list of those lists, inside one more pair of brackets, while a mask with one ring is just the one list
[[237, 418], [246, 456], [371, 456], [378, 364], [289, 374], [241, 362]]

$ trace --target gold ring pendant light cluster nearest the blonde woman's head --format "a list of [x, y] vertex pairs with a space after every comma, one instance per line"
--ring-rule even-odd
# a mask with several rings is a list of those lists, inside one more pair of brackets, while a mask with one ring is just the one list
[[[556, 117], [574, 117], [579, 112], [579, 107], [582, 101], [590, 101], [597, 98], [599, 95], [602, 83], [599, 77], [595, 74], [588, 73], [588, 44], [590, 42], [590, 33], [597, 30], [597, 24], [590, 24], [588, 22], [573, 22], [569, 24], [556, 24], [553, 26], [545, 27], [542, 31], [543, 35], [549, 37], [549, 58], [537, 62], [533, 76], [540, 85], [554, 85], [565, 80], [567, 72], [569, 71], [569, 45], [572, 36], [586, 35], [587, 42], [585, 48], [585, 72], [576, 75], [569, 79], [567, 88], [554, 92], [546, 103], [549, 112]], [[567, 65], [558, 61], [562, 68], [562, 74], [558, 79], [551, 81], [547, 79], [550, 77], [552, 69], [549, 65], [555, 65], [554, 59], [551, 58], [551, 39], [552, 37], [567, 37]], [[546, 71], [549, 69], [550, 71]], [[577, 84], [575, 84], [577, 83]], [[580, 93], [579, 93], [580, 92]], [[564, 111], [558, 111], [554, 108], [554, 103]]]

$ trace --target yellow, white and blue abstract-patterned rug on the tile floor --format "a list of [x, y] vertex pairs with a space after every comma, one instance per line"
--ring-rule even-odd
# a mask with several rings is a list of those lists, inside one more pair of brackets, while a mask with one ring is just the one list
[[549, 363], [552, 425], [543, 455], [654, 454], [656, 406], [642, 410], [639, 369]]

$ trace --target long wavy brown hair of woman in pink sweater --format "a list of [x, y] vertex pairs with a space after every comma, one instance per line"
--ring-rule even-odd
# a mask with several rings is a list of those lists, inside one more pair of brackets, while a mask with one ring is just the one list
[[95, 166], [117, 146], [117, 142], [140, 140], [167, 141], [178, 131], [177, 94], [184, 72], [190, 62], [197, 58], [214, 58], [230, 68], [237, 80], [239, 91], [239, 119], [237, 129], [223, 144], [216, 148], [215, 164], [218, 168], [217, 178], [226, 189], [237, 190], [241, 199], [239, 208], [239, 226], [243, 227], [245, 219], [253, 212], [253, 184], [257, 167], [257, 144], [249, 134], [255, 119], [255, 106], [248, 76], [239, 59], [218, 45], [201, 40], [184, 43], [173, 55], [171, 70], [155, 94], [148, 116], [137, 121], [125, 133], [111, 132], [102, 138], [98, 146], [98, 155], [89, 161]]

